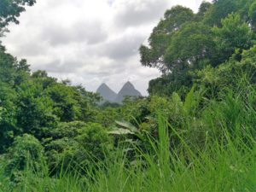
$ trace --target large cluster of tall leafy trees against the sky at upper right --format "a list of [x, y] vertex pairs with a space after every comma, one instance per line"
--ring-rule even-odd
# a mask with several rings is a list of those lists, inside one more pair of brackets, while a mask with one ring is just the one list
[[[241, 53], [253, 46], [253, 1], [204, 2], [196, 15], [182, 22], [180, 15], [188, 14], [184, 10], [170, 9], [170, 18], [160, 20], [148, 38], [149, 46], [142, 45], [140, 49], [143, 66], [157, 67], [163, 73], [150, 81], [151, 95], [171, 96], [172, 92], [178, 92], [184, 99], [194, 84], [196, 71], [207, 65], [218, 67], [237, 51]], [[181, 25], [168, 31], [169, 20], [176, 19]], [[161, 34], [160, 29], [166, 32], [165, 41], [156, 38]]]

